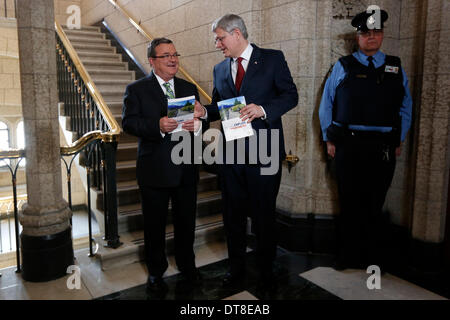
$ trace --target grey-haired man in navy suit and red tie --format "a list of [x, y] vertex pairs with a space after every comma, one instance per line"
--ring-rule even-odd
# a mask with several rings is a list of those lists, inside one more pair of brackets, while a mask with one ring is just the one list
[[[245, 96], [247, 105], [240, 111], [242, 119], [251, 122], [258, 146], [263, 131], [267, 134], [265, 141], [271, 141], [272, 135], [277, 137], [278, 134], [275, 143], [268, 142], [266, 147], [272, 156], [276, 153], [280, 159], [275, 174], [263, 174], [261, 161], [257, 164], [249, 162], [254, 155], [249, 154], [249, 139], [245, 138], [246, 163], [225, 163], [219, 168], [230, 260], [224, 284], [240, 282], [244, 277], [247, 216], [252, 218], [256, 235], [261, 278], [265, 283], [272, 283], [280, 162], [286, 157], [281, 116], [297, 105], [297, 88], [283, 53], [250, 44], [241, 17], [227, 14], [213, 23], [212, 31], [216, 48], [222, 50], [226, 59], [214, 67], [212, 104], [206, 106], [202, 116], [207, 116], [209, 121], [219, 120], [217, 102]], [[227, 147], [226, 152], [230, 149]]]

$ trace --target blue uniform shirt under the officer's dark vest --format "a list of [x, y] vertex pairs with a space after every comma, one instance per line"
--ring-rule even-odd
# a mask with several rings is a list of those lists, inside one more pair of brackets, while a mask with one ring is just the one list
[[[369, 61], [367, 61], [368, 56], [366, 56], [361, 50], [353, 53], [353, 56], [363, 65], [368, 66]], [[386, 59], [386, 55], [378, 51], [373, 55], [373, 64], [375, 68], [379, 68], [384, 64]], [[412, 113], [412, 98], [411, 93], [408, 88], [408, 78], [406, 77], [405, 71], [402, 69], [403, 73], [403, 87], [405, 88], [405, 96], [403, 97], [403, 103], [400, 107], [400, 117], [402, 119], [402, 128], [401, 128], [401, 141], [404, 141], [406, 138], [406, 134], [411, 126], [411, 113]], [[345, 78], [345, 71], [342, 67], [340, 61], [337, 61], [333, 67], [333, 71], [331, 72], [330, 77], [327, 79], [325, 83], [325, 88], [323, 90], [322, 100], [320, 102], [319, 107], [319, 119], [320, 126], [322, 128], [322, 136], [323, 141], [327, 141], [327, 128], [330, 126], [333, 120], [333, 103], [334, 96], [336, 93], [336, 88]], [[339, 125], [339, 123], [334, 122]], [[348, 125], [349, 129], [352, 130], [361, 130], [361, 131], [378, 131], [378, 132], [390, 132], [392, 130], [391, 127], [374, 127], [374, 126], [363, 126], [363, 125]]]

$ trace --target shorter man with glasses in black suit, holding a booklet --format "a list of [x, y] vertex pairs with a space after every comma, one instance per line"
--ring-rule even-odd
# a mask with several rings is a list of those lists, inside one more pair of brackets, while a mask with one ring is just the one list
[[[171, 40], [154, 39], [147, 55], [153, 72], [127, 86], [122, 127], [139, 138], [137, 180], [144, 215], [147, 291], [162, 291], [167, 289], [162, 276], [168, 267], [165, 228], [169, 199], [177, 267], [190, 281], [199, 277], [193, 250], [198, 168], [172, 162], [171, 151], [177, 142], [171, 141], [170, 132], [177, 122], [167, 117], [168, 98], [199, 97], [195, 85], [175, 77], [179, 54]], [[193, 120], [183, 127], [188, 131], [196, 129]]]

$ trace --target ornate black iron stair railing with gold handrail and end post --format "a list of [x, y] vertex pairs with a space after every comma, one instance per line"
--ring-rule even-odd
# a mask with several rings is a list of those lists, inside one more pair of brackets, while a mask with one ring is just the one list
[[[75, 157], [83, 150], [80, 163], [86, 167], [92, 187], [103, 192], [106, 245], [117, 248], [121, 245], [116, 185], [116, 151], [120, 127], [57, 22], [55, 29], [59, 100], [64, 103], [64, 115], [70, 118], [71, 131], [81, 137], [70, 147], [61, 148], [61, 154]], [[72, 162], [73, 159], [70, 165], [65, 162], [69, 192]], [[90, 205], [90, 201], [88, 203]]]

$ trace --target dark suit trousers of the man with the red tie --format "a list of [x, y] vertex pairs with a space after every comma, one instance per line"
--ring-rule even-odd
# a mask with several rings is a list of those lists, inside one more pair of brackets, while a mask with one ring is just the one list
[[256, 235], [260, 271], [271, 271], [276, 256], [276, 200], [281, 167], [275, 175], [261, 175], [257, 165], [221, 165], [219, 168], [223, 219], [227, 235], [230, 271], [245, 268], [247, 216]]

